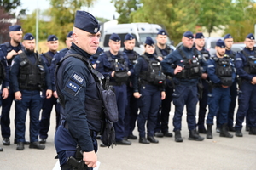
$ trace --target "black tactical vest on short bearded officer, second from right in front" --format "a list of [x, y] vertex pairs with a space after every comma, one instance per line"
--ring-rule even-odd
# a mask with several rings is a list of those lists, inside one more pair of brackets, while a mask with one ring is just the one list
[[214, 60], [216, 64], [215, 74], [218, 76], [224, 86], [231, 86], [233, 69], [230, 65], [230, 57], [224, 57], [223, 59], [214, 57]]

